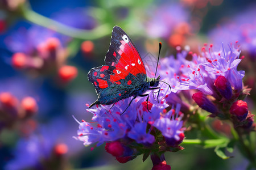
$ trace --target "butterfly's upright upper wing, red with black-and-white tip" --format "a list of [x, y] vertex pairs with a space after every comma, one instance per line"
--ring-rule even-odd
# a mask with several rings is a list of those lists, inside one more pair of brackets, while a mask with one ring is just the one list
[[[118, 26], [113, 28], [112, 39], [109, 51], [106, 53], [105, 62], [108, 66], [123, 69], [134, 76], [137, 76], [137, 74], [146, 75], [144, 63], [133, 41]], [[122, 79], [125, 79], [125, 77]]]

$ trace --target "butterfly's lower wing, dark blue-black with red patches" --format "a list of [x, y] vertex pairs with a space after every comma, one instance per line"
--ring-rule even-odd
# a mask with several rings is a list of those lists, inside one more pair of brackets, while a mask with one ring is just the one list
[[144, 74], [134, 76], [128, 71], [114, 66], [100, 66], [91, 69], [88, 79], [93, 83], [98, 94], [98, 99], [92, 105], [112, 104], [136, 95], [137, 88], [135, 87], [139, 87], [144, 76]]

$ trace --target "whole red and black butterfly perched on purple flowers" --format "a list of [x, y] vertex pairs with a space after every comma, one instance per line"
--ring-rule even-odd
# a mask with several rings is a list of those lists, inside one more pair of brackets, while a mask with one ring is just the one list
[[92, 82], [98, 95], [98, 99], [89, 108], [95, 104], [114, 104], [133, 96], [129, 107], [137, 96], [147, 96], [148, 102], [149, 95], [144, 94], [147, 90], [160, 90], [160, 75], [157, 78], [147, 77], [137, 48], [127, 33], [118, 26], [113, 28], [105, 63], [106, 65], [95, 67], [88, 73], [88, 80]]

